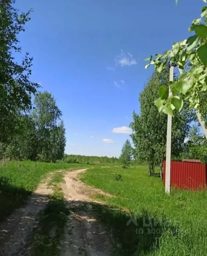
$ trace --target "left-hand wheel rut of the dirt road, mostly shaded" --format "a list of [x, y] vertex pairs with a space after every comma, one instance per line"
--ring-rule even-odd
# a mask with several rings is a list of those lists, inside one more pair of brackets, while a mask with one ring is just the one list
[[46, 206], [52, 188], [48, 184], [54, 173], [39, 184], [35, 192], [29, 197], [25, 206], [17, 209], [6, 221], [0, 223], [0, 255], [17, 256], [27, 250], [28, 237], [32, 229], [38, 224], [38, 213]]

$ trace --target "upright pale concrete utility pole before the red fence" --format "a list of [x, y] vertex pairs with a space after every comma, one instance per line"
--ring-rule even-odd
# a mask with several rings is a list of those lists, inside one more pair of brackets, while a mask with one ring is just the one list
[[[170, 77], [169, 81], [173, 81], [174, 63], [170, 62]], [[169, 87], [169, 97], [172, 92]], [[171, 130], [172, 130], [172, 116], [167, 115], [167, 142], [166, 142], [166, 165], [165, 165], [165, 193], [170, 193], [170, 163], [171, 163]]]

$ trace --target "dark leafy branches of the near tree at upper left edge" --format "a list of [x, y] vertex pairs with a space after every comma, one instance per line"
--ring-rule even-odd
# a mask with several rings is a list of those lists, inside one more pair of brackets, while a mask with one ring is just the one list
[[0, 1], [0, 142], [10, 142], [19, 125], [18, 114], [32, 108], [31, 96], [39, 85], [30, 81], [32, 58], [26, 53], [21, 63], [18, 34], [25, 30], [30, 11], [19, 14], [15, 1]]

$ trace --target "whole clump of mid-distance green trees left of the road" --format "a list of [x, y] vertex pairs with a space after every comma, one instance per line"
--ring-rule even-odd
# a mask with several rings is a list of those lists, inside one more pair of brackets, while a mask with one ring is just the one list
[[0, 144], [0, 159], [55, 162], [65, 149], [65, 128], [61, 112], [48, 92], [36, 94], [31, 114], [18, 114], [18, 129], [9, 143]]

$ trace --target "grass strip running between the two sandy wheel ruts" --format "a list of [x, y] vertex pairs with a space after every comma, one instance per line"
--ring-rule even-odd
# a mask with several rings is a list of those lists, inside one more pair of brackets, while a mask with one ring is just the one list
[[33, 230], [30, 242], [31, 256], [56, 256], [60, 251], [69, 214], [58, 185], [62, 182], [62, 178], [61, 173], [56, 173], [52, 179], [54, 193], [45, 209], [39, 214], [38, 227]]

